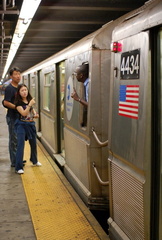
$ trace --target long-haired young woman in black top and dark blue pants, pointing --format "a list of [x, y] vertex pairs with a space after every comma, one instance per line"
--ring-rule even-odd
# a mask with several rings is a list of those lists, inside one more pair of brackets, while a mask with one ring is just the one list
[[16, 109], [19, 112], [19, 119], [15, 122], [15, 131], [17, 134], [17, 152], [15, 171], [18, 174], [24, 173], [23, 170], [23, 155], [25, 141], [29, 140], [31, 152], [30, 161], [34, 166], [41, 166], [42, 164], [37, 160], [37, 145], [36, 145], [36, 127], [33, 118], [38, 118], [33, 105], [34, 98], [30, 95], [25, 84], [18, 85], [15, 96]]

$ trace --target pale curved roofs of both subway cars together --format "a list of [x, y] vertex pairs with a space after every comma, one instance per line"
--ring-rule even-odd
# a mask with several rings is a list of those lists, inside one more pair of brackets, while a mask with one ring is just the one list
[[[132, 11], [131, 13], [125, 14], [114, 21], [110, 21], [97, 31], [87, 35], [69, 47], [38, 63], [34, 67], [29, 68], [22, 74], [25, 75], [29, 72], [40, 70], [54, 63], [66, 60], [76, 54], [91, 51], [92, 49], [110, 50], [112, 40], [115, 41], [122, 39], [142, 30], [156, 26], [157, 24], [160, 25], [161, 23], [162, 2], [161, 0], [150, 0], [142, 7]], [[112, 32], [114, 32], [113, 39]]]

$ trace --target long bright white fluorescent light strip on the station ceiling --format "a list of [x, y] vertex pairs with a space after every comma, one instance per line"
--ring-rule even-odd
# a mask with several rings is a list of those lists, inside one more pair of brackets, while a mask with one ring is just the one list
[[41, 0], [23, 1], [2, 78], [5, 77], [40, 2]]

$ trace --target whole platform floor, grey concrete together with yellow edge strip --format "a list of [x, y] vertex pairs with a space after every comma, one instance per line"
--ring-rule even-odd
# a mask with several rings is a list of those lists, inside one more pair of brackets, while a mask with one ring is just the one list
[[109, 239], [60, 169], [38, 142], [41, 167], [29, 161], [25, 173], [10, 167], [6, 111], [0, 96], [0, 239], [106, 240]]

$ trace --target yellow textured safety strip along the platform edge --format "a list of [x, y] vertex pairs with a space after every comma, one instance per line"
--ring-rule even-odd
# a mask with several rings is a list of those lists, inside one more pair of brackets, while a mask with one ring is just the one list
[[[24, 159], [29, 159], [29, 145]], [[21, 175], [38, 240], [100, 239], [38, 146], [41, 167], [27, 161]]]

